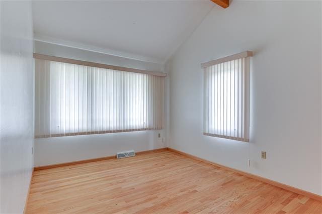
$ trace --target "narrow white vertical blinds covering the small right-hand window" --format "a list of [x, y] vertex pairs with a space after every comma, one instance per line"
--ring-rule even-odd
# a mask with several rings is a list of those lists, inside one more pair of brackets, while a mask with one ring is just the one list
[[204, 135], [249, 142], [250, 57], [204, 68]]

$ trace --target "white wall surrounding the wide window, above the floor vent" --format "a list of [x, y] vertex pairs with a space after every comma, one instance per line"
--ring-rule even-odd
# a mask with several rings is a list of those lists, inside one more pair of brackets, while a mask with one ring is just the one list
[[[35, 41], [35, 53], [98, 62], [109, 65], [164, 72], [164, 65], [122, 58], [88, 50]], [[166, 77], [166, 94], [169, 93], [169, 78]], [[166, 105], [168, 106], [166, 95]], [[166, 108], [166, 118], [169, 109]], [[166, 120], [167, 121], [167, 120]], [[166, 123], [167, 124], [167, 123]], [[158, 133], [161, 138], [158, 138]], [[35, 166], [65, 163], [77, 160], [106, 157], [116, 152], [146, 151], [167, 147], [166, 129], [126, 133], [68, 136], [35, 139]], [[162, 142], [162, 138], [165, 138]]]

